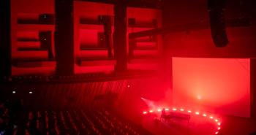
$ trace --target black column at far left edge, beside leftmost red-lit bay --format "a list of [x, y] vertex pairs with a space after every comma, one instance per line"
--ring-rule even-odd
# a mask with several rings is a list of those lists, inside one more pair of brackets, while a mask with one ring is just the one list
[[0, 1], [0, 79], [12, 74], [10, 9], [10, 0]]

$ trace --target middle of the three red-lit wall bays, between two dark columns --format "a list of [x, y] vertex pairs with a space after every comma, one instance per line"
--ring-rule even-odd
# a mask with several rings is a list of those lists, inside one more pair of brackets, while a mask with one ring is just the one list
[[108, 48], [98, 44], [98, 34], [104, 32], [99, 15], [113, 16], [113, 5], [74, 1], [74, 53], [75, 61], [80, 61], [74, 65], [75, 74], [112, 72], [114, 69], [116, 61], [108, 58]]

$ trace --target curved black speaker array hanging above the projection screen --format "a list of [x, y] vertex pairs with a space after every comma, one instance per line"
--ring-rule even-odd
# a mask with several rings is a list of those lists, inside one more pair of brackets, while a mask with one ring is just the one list
[[225, 47], [228, 44], [224, 15], [225, 4], [226, 0], [208, 0], [211, 37], [217, 47]]

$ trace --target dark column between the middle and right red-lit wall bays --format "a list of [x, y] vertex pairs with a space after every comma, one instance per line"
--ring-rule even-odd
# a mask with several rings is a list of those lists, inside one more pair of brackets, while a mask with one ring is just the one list
[[113, 46], [116, 58], [116, 72], [127, 70], [127, 6], [124, 0], [116, 1], [114, 5]]

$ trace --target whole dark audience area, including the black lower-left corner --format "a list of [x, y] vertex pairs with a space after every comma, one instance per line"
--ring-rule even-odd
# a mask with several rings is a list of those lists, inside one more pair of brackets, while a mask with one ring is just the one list
[[147, 135], [107, 109], [26, 110], [22, 101], [0, 105], [0, 135]]

